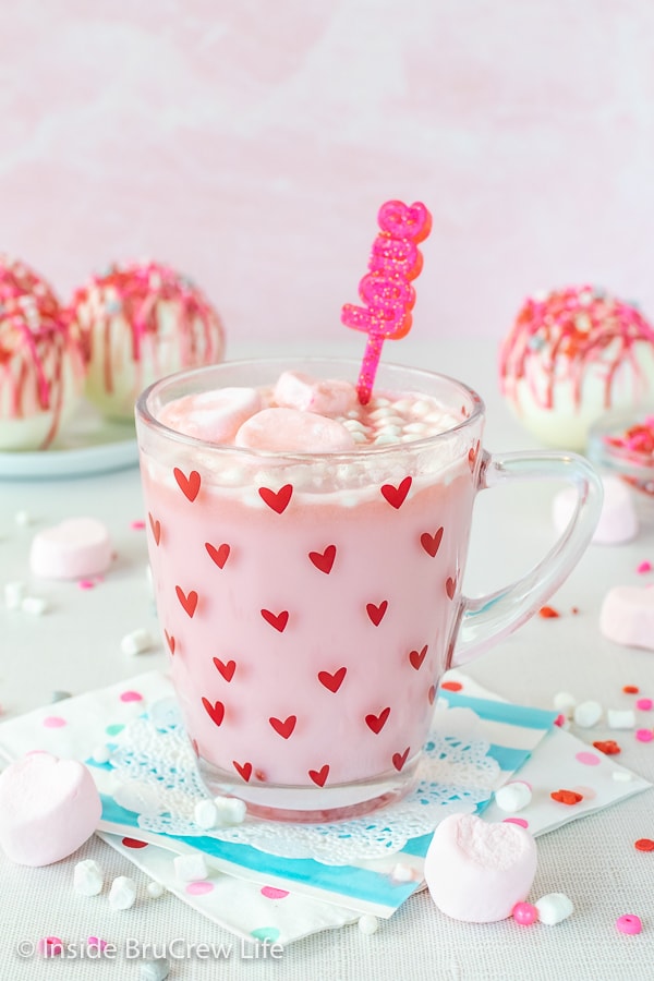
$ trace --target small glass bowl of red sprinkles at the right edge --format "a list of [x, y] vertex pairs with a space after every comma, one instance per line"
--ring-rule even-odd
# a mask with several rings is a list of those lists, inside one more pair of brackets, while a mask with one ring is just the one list
[[654, 408], [607, 412], [589, 433], [588, 457], [605, 474], [621, 477], [639, 502], [654, 508]]

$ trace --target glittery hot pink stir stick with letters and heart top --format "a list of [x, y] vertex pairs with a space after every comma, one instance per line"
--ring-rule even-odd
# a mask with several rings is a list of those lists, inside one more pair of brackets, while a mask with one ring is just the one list
[[365, 305], [346, 303], [341, 311], [347, 327], [367, 334], [356, 386], [362, 405], [370, 402], [384, 341], [398, 340], [411, 329], [415, 303], [411, 280], [420, 275], [423, 263], [417, 243], [432, 230], [432, 216], [421, 202], [387, 201], [377, 222], [380, 232], [373, 242], [368, 272], [359, 283]]

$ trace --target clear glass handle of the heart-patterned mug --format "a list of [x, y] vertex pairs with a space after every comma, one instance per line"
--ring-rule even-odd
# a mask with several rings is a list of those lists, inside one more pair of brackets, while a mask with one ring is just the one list
[[458, 631], [447, 667], [460, 667], [492, 643], [524, 623], [569, 576], [590, 543], [602, 510], [602, 481], [578, 453], [484, 452], [479, 491], [508, 481], [559, 480], [577, 489], [577, 504], [568, 526], [549, 552], [523, 577], [495, 593], [474, 600], [460, 597]]

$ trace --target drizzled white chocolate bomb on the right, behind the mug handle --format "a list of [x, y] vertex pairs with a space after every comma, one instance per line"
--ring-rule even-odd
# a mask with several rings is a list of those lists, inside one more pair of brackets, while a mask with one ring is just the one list
[[543, 443], [582, 449], [608, 409], [654, 391], [654, 328], [632, 304], [592, 286], [528, 298], [500, 350], [500, 385]]

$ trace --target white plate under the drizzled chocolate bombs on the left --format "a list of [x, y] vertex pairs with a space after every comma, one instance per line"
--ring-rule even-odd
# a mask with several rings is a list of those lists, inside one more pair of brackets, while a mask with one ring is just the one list
[[85, 404], [48, 449], [0, 452], [0, 480], [84, 476], [137, 462], [134, 424], [102, 419]]

